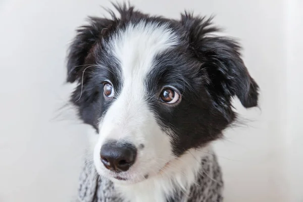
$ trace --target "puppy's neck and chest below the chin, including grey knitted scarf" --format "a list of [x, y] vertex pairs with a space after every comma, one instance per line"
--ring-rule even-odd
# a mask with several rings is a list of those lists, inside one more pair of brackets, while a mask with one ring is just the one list
[[222, 200], [221, 171], [211, 147], [190, 149], [186, 154], [171, 162], [163, 172], [140, 183], [114, 184], [106, 178], [97, 176], [94, 167], [86, 162], [80, 177], [80, 201]]

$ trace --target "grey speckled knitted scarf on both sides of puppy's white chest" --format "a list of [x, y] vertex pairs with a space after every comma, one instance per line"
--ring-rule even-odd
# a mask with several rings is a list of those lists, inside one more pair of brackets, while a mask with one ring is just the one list
[[[177, 191], [167, 196], [167, 202], [221, 202], [223, 181], [215, 155], [201, 159], [201, 168], [196, 181], [191, 184], [189, 194]], [[77, 202], [131, 202], [123, 199], [115, 185], [100, 177], [92, 161], [86, 161], [80, 175]], [[144, 202], [144, 201], [142, 201]], [[156, 201], [155, 201], [156, 202]]]

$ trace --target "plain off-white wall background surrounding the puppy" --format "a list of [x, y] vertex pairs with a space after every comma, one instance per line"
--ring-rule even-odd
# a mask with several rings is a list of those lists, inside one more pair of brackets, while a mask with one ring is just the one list
[[[303, 1], [131, 1], [151, 14], [179, 18], [184, 9], [215, 14], [240, 39], [261, 87], [260, 107], [235, 106], [247, 126], [216, 143], [225, 201], [303, 201]], [[0, 201], [70, 201], [87, 147], [87, 126], [66, 104], [65, 56], [87, 15], [102, 0], [0, 2]], [[112, 7], [111, 7], [112, 8]], [[60, 112], [61, 115], [56, 118]]]

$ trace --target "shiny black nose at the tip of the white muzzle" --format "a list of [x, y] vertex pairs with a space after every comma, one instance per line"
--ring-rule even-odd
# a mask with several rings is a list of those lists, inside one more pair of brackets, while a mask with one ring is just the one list
[[130, 143], [110, 141], [100, 150], [101, 161], [104, 166], [112, 171], [127, 171], [134, 163], [137, 149]]

